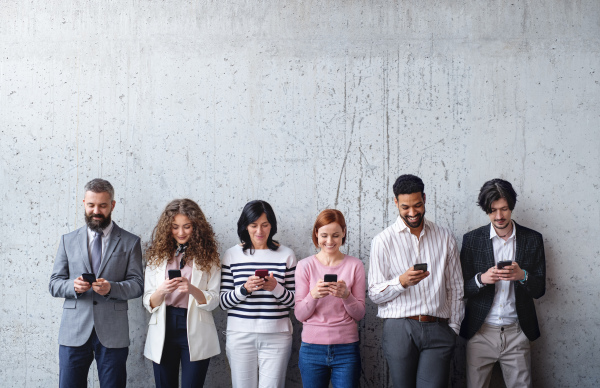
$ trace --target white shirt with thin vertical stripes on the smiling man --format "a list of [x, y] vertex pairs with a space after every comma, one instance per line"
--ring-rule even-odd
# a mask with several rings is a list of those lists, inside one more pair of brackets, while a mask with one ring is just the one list
[[[400, 217], [379, 233], [371, 245], [369, 298], [378, 304], [380, 318], [431, 315], [450, 318], [458, 334], [464, 316], [463, 277], [454, 236], [424, 219], [417, 238]], [[400, 275], [418, 263], [427, 263], [430, 275], [404, 288]]]

